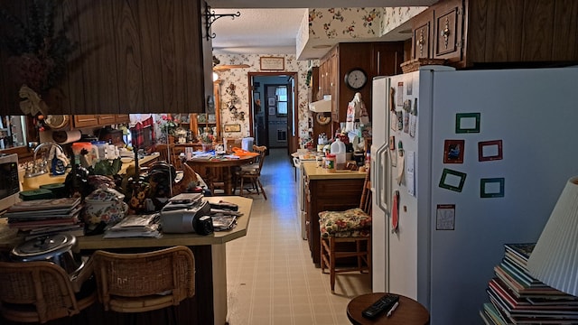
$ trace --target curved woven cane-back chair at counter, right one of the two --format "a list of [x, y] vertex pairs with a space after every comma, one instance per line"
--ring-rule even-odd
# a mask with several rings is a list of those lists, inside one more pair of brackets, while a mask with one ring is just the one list
[[186, 246], [134, 254], [98, 250], [92, 258], [105, 311], [134, 315], [172, 307], [178, 324], [174, 307], [195, 294], [195, 261]]

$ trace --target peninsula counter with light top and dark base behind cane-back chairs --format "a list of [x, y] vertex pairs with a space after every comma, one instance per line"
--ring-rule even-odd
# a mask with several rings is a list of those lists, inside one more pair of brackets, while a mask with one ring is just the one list
[[[247, 235], [253, 200], [238, 197], [207, 197], [206, 200], [218, 202], [227, 200], [238, 204], [238, 210], [243, 216], [238, 218], [236, 228], [215, 232], [209, 236], [197, 234], [163, 234], [161, 238], [108, 238], [102, 236], [78, 237], [79, 248], [83, 254], [89, 255], [97, 249], [135, 250], [142, 248], [161, 248], [166, 246], [189, 246], [195, 257], [195, 295], [177, 306], [180, 323], [182, 324], [225, 324], [227, 318], [227, 261], [225, 243]], [[0, 218], [0, 250], [9, 250], [23, 241], [22, 237], [11, 236], [6, 225], [6, 219]], [[117, 314], [105, 312], [98, 303], [86, 311], [86, 325], [108, 324], [122, 325], [123, 318]], [[162, 323], [164, 312], [151, 312], [142, 315], [147, 323]], [[141, 315], [137, 315], [137, 323]], [[0, 317], [0, 320], [3, 320]], [[4, 320], [3, 320], [4, 321]], [[5, 322], [0, 321], [5, 324]], [[144, 321], [144, 320], [142, 320]], [[152, 322], [151, 322], [152, 321]], [[68, 320], [56, 321], [54, 324], [68, 323]], [[8, 325], [13, 323], [7, 322]]]

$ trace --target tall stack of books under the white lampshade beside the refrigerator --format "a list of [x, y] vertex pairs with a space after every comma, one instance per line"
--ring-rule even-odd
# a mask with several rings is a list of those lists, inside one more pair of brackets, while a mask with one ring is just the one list
[[578, 297], [533, 278], [527, 259], [536, 244], [506, 244], [504, 258], [489, 281], [489, 302], [480, 316], [486, 324], [578, 324]]

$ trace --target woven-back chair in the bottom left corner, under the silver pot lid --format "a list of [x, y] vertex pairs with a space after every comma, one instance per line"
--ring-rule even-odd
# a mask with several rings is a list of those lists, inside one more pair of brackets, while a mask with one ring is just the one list
[[51, 262], [0, 262], [0, 312], [6, 320], [39, 323], [77, 315], [97, 300], [94, 284], [79, 282], [90, 274], [89, 264], [71, 281]]

